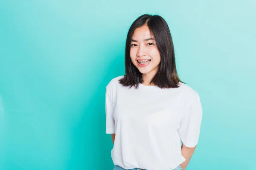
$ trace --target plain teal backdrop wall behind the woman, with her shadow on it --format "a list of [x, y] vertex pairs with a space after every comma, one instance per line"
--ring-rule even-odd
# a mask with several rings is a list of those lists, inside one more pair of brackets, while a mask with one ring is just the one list
[[169, 24], [203, 121], [186, 170], [254, 170], [256, 2], [0, 1], [0, 169], [112, 170], [105, 87], [141, 14]]

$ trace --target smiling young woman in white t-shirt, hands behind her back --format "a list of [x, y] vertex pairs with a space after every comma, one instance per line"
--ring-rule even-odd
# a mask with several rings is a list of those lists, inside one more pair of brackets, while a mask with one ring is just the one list
[[144, 14], [131, 25], [125, 75], [108, 83], [105, 109], [114, 170], [185, 170], [202, 107], [177, 75], [171, 33], [159, 15]]

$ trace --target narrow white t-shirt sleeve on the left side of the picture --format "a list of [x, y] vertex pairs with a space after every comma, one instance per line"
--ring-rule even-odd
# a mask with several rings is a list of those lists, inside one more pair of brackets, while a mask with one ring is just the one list
[[106, 133], [115, 133], [115, 120], [113, 118], [113, 105], [111, 96], [106, 89], [106, 99], [105, 99], [105, 112], [106, 112]]

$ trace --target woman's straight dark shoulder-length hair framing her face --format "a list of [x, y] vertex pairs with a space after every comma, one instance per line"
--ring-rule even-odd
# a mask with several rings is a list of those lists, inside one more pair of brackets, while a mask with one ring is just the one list
[[160, 67], [151, 79], [151, 83], [159, 88], [178, 88], [178, 83], [181, 81], [176, 70], [174, 47], [169, 27], [163, 17], [150, 14], [143, 14], [138, 17], [128, 31], [125, 45], [125, 75], [119, 79], [119, 82], [123, 86], [130, 86], [130, 88], [135, 86], [136, 89], [140, 83], [143, 83], [142, 74], [131, 62], [130, 49], [134, 30], [145, 25], [148, 26], [151, 35], [154, 36], [161, 56]]

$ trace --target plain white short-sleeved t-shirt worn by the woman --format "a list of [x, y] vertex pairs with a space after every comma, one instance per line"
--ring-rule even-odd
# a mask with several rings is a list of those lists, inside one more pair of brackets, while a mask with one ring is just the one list
[[198, 93], [179, 82], [179, 88], [122, 86], [113, 78], [106, 87], [106, 133], [115, 133], [111, 157], [125, 169], [172, 170], [198, 143], [202, 107]]

